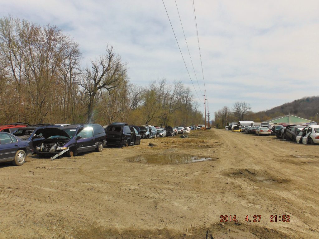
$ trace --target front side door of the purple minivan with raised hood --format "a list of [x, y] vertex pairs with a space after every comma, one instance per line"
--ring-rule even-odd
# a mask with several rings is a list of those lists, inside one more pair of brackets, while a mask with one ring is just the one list
[[95, 149], [93, 128], [91, 126], [80, 128], [75, 137], [78, 153], [93, 151]]

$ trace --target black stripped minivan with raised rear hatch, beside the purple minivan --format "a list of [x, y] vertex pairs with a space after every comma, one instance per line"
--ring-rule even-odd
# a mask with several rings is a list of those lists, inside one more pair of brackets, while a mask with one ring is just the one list
[[128, 126], [127, 123], [112, 123], [105, 129], [106, 145], [123, 147], [125, 145], [140, 144], [141, 136], [135, 127]]

